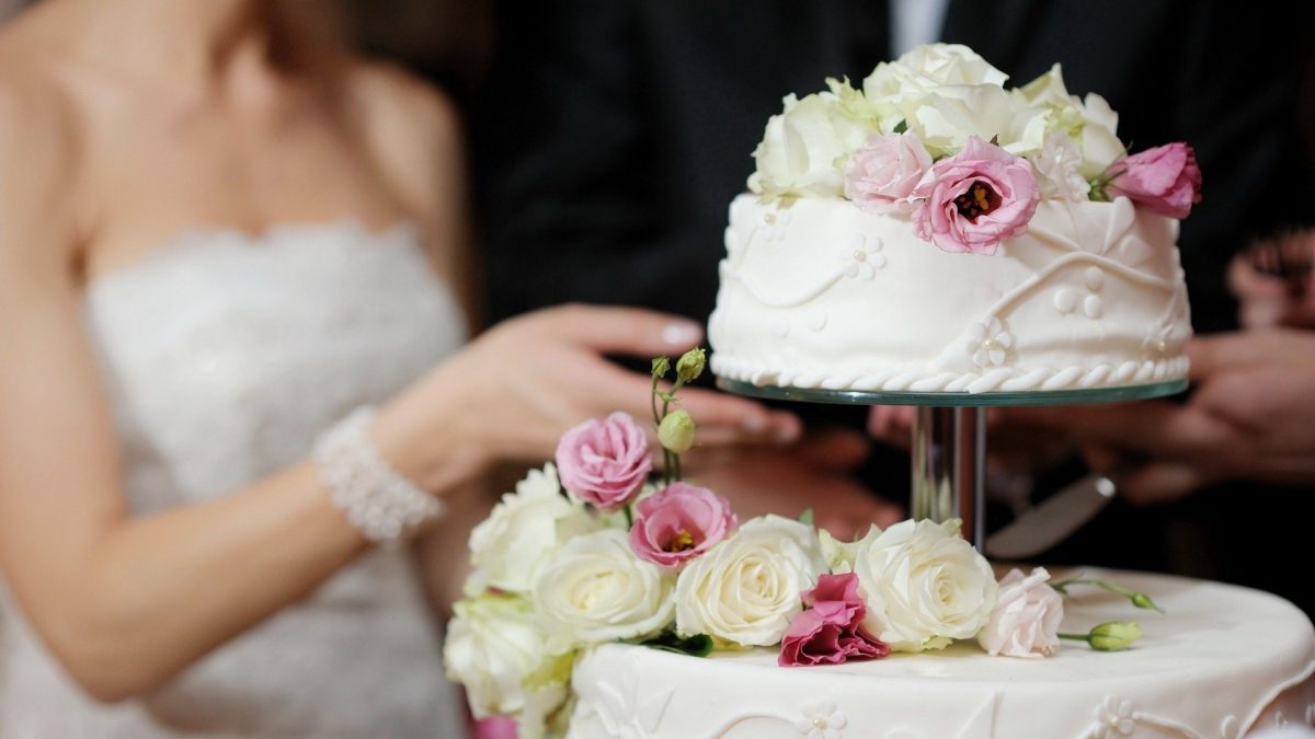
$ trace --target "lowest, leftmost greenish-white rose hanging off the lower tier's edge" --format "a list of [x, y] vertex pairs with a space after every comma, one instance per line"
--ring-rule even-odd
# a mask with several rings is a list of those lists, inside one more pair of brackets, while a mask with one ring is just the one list
[[[476, 718], [527, 710], [547, 715], [565, 700], [569, 663], [555, 669], [559, 660], [544, 650], [544, 634], [529, 601], [487, 594], [452, 608], [456, 615], [447, 625], [443, 665], [450, 680], [466, 686]], [[556, 680], [551, 680], [554, 672], [559, 672]], [[542, 684], [531, 690], [526, 682], [535, 677]]]

